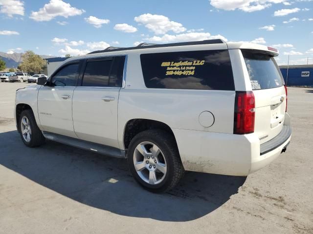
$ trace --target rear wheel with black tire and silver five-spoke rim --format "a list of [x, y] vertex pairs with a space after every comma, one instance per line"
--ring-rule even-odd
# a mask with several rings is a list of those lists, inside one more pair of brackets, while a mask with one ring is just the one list
[[134, 179], [154, 193], [172, 189], [184, 174], [175, 138], [164, 130], [146, 130], [137, 134], [130, 143], [127, 162]]

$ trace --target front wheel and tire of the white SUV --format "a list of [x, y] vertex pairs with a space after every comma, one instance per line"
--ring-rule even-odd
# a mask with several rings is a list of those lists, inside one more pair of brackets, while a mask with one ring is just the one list
[[[19, 118], [18, 127], [22, 141], [26, 146], [37, 147], [45, 143], [45, 137], [38, 128], [34, 114], [31, 110], [22, 111]], [[30, 137], [28, 138], [27, 136], [29, 135]]]

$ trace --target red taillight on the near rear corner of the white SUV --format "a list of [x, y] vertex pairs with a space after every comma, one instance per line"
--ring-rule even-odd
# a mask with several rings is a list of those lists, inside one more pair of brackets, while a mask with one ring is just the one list
[[254, 132], [255, 102], [252, 91], [236, 91], [234, 134]]

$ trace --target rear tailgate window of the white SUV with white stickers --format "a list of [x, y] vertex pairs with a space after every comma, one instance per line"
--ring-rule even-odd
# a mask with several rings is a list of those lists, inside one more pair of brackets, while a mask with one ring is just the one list
[[253, 50], [242, 50], [252, 90], [277, 88], [284, 84], [275, 59]]

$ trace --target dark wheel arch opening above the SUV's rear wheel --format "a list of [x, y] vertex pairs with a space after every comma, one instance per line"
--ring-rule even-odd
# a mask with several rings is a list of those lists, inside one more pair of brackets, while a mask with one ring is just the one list
[[170, 126], [168, 126], [166, 123], [153, 120], [153, 119], [134, 118], [134, 119], [130, 119], [126, 123], [125, 128], [124, 128], [123, 143], [124, 143], [125, 149], [128, 149], [129, 144], [134, 138], [134, 136], [136, 136], [140, 132], [143, 132], [149, 129], [160, 129], [160, 130], [164, 130], [168, 132], [174, 137], [174, 140], [177, 145], [175, 135], [172, 129], [170, 128]]

